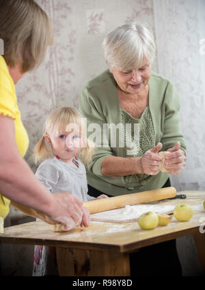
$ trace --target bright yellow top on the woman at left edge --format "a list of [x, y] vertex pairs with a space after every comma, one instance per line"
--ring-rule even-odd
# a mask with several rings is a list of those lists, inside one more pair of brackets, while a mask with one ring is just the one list
[[[18, 150], [22, 157], [25, 156], [29, 146], [29, 138], [20, 119], [14, 82], [2, 56], [0, 56], [0, 114], [14, 119]], [[0, 194], [0, 217], [3, 217], [3, 219], [9, 213], [9, 205], [10, 200]]]

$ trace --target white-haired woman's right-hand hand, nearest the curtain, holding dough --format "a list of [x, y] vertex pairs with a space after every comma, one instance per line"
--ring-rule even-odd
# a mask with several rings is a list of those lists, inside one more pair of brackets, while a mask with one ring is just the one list
[[169, 148], [167, 152], [170, 152], [165, 157], [164, 162], [164, 168], [166, 169], [167, 173], [181, 173], [186, 166], [187, 157], [185, 156], [182, 149], [180, 149], [180, 142], [177, 142], [174, 147]]

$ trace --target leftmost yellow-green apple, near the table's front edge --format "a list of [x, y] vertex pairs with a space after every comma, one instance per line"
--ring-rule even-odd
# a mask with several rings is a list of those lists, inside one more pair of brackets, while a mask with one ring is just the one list
[[148, 211], [139, 217], [138, 223], [140, 228], [143, 228], [143, 230], [152, 230], [158, 226], [159, 217], [153, 211]]

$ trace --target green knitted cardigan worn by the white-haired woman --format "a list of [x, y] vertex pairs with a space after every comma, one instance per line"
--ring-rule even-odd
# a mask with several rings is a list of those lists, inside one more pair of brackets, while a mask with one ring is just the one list
[[[180, 141], [181, 149], [185, 152], [186, 145], [180, 132], [180, 99], [172, 82], [154, 72], [149, 80], [149, 108], [154, 124], [155, 144], [161, 142], [163, 144], [161, 151], [166, 151]], [[108, 140], [105, 134], [102, 135], [103, 124], [122, 123], [117, 85], [109, 70], [86, 84], [79, 99], [79, 110], [83, 117], [87, 118], [88, 130], [101, 129], [87, 132], [88, 137], [92, 138], [95, 134], [98, 135], [98, 141], [101, 139], [101, 144], [97, 144], [92, 161], [86, 166], [88, 184], [109, 195], [159, 189], [165, 184], [169, 176], [163, 172], [159, 172], [156, 176], [148, 176], [135, 184], [127, 184], [123, 176], [102, 176], [101, 165], [104, 158], [107, 156], [125, 157], [122, 147], [111, 147], [110, 131]]]

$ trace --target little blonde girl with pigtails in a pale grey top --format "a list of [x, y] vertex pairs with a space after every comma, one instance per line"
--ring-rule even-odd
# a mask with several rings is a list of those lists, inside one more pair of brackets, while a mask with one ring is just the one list
[[[36, 162], [42, 161], [36, 177], [51, 193], [68, 192], [83, 202], [93, 200], [87, 194], [84, 164], [90, 162], [94, 143], [86, 138], [85, 123], [74, 108], [57, 108], [44, 124], [44, 134], [34, 149]], [[105, 198], [100, 195], [97, 198]], [[36, 245], [33, 276], [57, 275], [55, 248]]]

